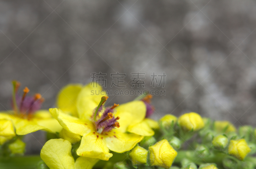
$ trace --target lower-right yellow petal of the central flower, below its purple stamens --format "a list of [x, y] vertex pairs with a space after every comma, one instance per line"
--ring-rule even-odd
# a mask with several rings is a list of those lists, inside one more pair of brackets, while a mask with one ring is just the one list
[[127, 134], [117, 132], [115, 130], [108, 133], [108, 137], [105, 137], [109, 150], [118, 153], [132, 150], [132, 148], [140, 142], [144, 137], [137, 134]]

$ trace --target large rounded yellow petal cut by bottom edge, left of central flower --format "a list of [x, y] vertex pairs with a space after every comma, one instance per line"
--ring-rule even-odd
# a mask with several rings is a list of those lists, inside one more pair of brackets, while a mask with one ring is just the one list
[[40, 156], [50, 169], [75, 169], [71, 147], [67, 140], [51, 139], [44, 144]]

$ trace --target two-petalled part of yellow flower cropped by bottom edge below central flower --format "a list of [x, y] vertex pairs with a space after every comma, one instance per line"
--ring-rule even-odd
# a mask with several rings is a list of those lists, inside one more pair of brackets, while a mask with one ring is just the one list
[[78, 157], [76, 162], [71, 155], [71, 143], [63, 139], [46, 142], [40, 156], [50, 169], [92, 169], [99, 159]]

